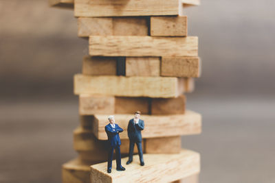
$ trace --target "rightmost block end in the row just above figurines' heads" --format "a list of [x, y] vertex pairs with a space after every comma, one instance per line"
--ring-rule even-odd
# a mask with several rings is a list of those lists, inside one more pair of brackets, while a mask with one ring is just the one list
[[152, 99], [151, 114], [184, 114], [186, 108], [186, 97], [181, 95], [176, 98]]

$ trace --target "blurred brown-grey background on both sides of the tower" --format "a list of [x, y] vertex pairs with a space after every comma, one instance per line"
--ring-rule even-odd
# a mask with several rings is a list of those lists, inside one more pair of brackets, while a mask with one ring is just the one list
[[[184, 11], [203, 63], [187, 106], [203, 133], [182, 145], [201, 153], [202, 183], [275, 182], [275, 1], [201, 1]], [[72, 10], [0, 0], [0, 182], [61, 182], [87, 46]]]

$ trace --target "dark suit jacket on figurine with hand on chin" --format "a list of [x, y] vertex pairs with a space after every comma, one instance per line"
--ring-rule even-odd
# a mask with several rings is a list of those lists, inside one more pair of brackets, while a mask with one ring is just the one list
[[142, 142], [142, 133], [141, 131], [144, 130], [144, 121], [139, 120], [137, 124], [135, 124], [134, 120], [131, 119], [129, 121], [128, 127], [127, 127], [127, 132], [128, 132], [128, 137], [130, 141]]

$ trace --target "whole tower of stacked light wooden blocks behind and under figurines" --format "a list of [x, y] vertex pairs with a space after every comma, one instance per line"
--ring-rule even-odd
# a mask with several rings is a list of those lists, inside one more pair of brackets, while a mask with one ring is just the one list
[[[74, 8], [78, 36], [89, 38], [82, 74], [74, 76], [80, 127], [78, 158], [63, 164], [63, 182], [198, 182], [199, 154], [181, 149], [181, 136], [201, 132], [201, 115], [185, 109], [199, 77], [198, 38], [187, 36], [186, 5], [199, 0], [50, 0]], [[126, 165], [127, 125], [144, 120], [139, 158]], [[126, 171], [107, 173], [108, 116], [115, 116]], [[135, 154], [137, 148], [134, 149]], [[124, 158], [123, 158], [124, 157]], [[115, 164], [115, 163], [113, 163]]]

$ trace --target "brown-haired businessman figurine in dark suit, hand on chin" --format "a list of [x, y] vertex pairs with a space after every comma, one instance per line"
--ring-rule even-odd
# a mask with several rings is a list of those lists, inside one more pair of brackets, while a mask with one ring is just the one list
[[130, 140], [129, 146], [129, 160], [126, 164], [133, 161], [133, 147], [136, 144], [138, 149], [138, 156], [140, 156], [140, 165], [144, 166], [142, 153], [142, 133], [144, 130], [144, 121], [140, 119], [140, 111], [135, 112], [135, 117], [129, 121], [127, 132]]

